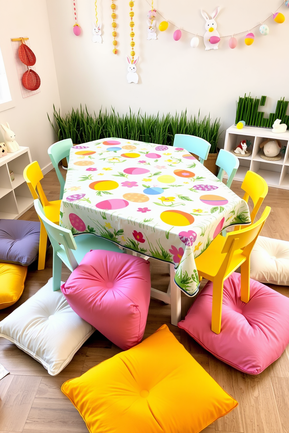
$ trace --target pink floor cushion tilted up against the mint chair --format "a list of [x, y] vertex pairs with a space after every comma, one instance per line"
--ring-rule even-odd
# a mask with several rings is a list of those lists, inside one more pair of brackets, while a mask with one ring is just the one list
[[122, 349], [140, 343], [150, 299], [149, 262], [92, 250], [61, 286], [72, 310]]

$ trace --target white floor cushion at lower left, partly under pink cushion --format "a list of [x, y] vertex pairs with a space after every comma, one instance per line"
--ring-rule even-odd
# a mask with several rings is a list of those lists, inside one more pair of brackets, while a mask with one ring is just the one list
[[0, 337], [40, 362], [55, 376], [73, 358], [95, 329], [68, 305], [52, 279], [0, 322]]

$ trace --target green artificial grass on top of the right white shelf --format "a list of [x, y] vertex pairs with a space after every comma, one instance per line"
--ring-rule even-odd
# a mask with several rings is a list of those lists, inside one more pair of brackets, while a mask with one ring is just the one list
[[272, 128], [276, 119], [281, 119], [281, 123], [286, 123], [289, 129], [289, 116], [286, 115], [289, 101], [279, 99], [277, 101], [275, 113], [270, 113], [269, 117], [264, 117], [263, 111], [258, 111], [259, 105], [264, 106], [266, 96], [262, 96], [261, 100], [254, 99], [250, 96], [239, 97], [237, 102], [236, 120], [235, 124], [244, 120], [247, 126], [259, 126], [261, 128]]

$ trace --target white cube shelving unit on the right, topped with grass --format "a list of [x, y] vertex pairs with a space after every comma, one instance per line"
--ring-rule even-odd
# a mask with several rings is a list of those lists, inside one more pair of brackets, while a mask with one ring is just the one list
[[[285, 153], [279, 161], [266, 161], [260, 157], [263, 149], [259, 145], [267, 138], [278, 139]], [[236, 181], [243, 181], [248, 170], [260, 174], [270, 187], [289, 189], [289, 131], [282, 134], [274, 134], [271, 128], [257, 128], [244, 126], [237, 129], [235, 125], [230, 126], [226, 131], [224, 149], [234, 153], [237, 145], [242, 140], [250, 140], [249, 147], [252, 154], [246, 158], [238, 157], [240, 166], [234, 177]], [[236, 155], [237, 156], [237, 155]]]

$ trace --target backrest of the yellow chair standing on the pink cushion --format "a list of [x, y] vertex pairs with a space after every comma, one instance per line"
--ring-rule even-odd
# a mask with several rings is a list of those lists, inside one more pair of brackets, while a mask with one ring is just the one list
[[230, 265], [231, 257], [234, 251], [237, 249], [243, 249], [243, 254], [246, 255], [247, 258], [250, 257], [253, 246], [257, 241], [257, 237], [259, 236], [260, 231], [262, 230], [262, 227], [270, 214], [270, 211], [271, 207], [266, 206], [260, 217], [260, 220], [258, 220], [256, 223], [243, 229], [227, 233], [226, 241], [222, 249], [222, 254], [227, 253], [227, 256], [219, 270], [220, 274], [224, 272], [225, 275], [227, 268]]

